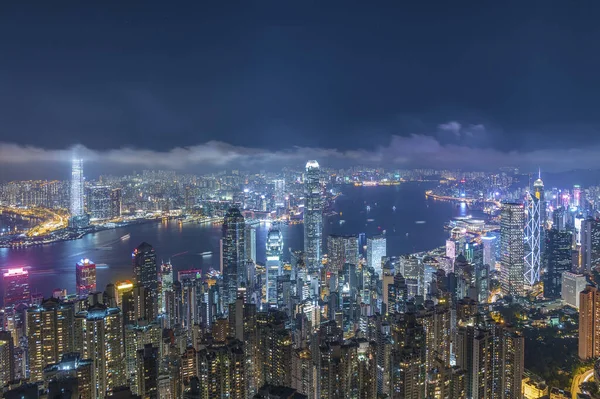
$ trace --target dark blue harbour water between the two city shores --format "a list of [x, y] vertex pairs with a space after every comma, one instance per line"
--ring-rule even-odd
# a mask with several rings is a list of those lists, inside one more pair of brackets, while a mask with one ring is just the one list
[[[324, 234], [382, 234], [385, 230], [389, 255], [400, 255], [443, 245], [448, 232], [443, 226], [464, 213], [449, 202], [428, 200], [427, 183], [405, 183], [390, 187], [345, 186], [336, 200], [338, 213], [325, 217]], [[367, 210], [367, 207], [369, 210]], [[395, 210], [394, 210], [395, 207]], [[265, 237], [269, 224], [257, 225], [257, 257], [265, 261]], [[287, 249], [301, 250], [303, 225], [279, 227]], [[28, 266], [33, 292], [49, 296], [55, 288], [75, 289], [75, 263], [89, 258], [97, 264], [98, 288], [109, 282], [130, 279], [131, 251], [146, 241], [157, 258], [171, 260], [175, 271], [219, 268], [221, 226], [168, 221], [146, 223], [88, 234], [81, 239], [23, 249], [0, 248], [2, 268]], [[324, 244], [324, 248], [326, 243]], [[211, 252], [212, 255], [206, 255]], [[204, 254], [204, 255], [203, 255]]]

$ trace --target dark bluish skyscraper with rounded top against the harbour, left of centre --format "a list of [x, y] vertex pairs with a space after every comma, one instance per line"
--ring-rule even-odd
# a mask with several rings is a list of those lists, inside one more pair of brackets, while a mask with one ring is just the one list
[[237, 290], [246, 283], [246, 242], [244, 216], [238, 208], [229, 208], [223, 220], [223, 279], [226, 304], [235, 302]]

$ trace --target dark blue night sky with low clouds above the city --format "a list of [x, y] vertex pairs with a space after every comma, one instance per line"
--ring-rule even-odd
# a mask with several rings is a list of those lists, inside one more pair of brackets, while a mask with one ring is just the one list
[[600, 159], [597, 2], [60, 3], [0, 5], [0, 178]]

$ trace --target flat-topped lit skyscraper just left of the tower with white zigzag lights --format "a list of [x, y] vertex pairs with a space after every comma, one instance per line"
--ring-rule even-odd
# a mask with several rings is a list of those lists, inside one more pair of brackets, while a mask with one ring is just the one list
[[525, 294], [524, 234], [525, 212], [522, 204], [504, 203], [500, 215], [500, 284], [504, 295]]

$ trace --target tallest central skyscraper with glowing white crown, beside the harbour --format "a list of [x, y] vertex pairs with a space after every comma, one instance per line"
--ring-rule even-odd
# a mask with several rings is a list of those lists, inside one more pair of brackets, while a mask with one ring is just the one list
[[323, 194], [319, 163], [308, 161], [304, 181], [304, 261], [309, 270], [320, 267], [323, 246]]

